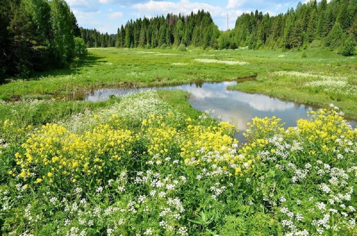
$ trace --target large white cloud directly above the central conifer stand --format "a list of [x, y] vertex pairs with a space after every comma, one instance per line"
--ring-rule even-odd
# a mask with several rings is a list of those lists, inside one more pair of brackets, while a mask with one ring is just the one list
[[190, 2], [190, 0], [180, 0], [179, 2], [150, 0], [147, 3], [134, 4], [132, 8], [139, 10], [137, 15], [161, 15], [168, 12], [190, 14], [191, 11], [197, 12], [204, 9], [205, 11], [209, 11], [212, 16], [217, 16], [223, 10], [220, 6], [213, 6], [202, 2]]

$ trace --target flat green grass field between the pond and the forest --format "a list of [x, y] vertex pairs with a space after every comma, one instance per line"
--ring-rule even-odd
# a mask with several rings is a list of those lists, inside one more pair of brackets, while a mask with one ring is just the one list
[[[357, 117], [357, 57], [343, 57], [317, 48], [306, 50], [307, 57], [302, 57], [302, 52], [248, 49], [193, 48], [180, 52], [105, 48], [89, 52], [71, 68], [41, 72], [29, 81], [1, 85], [0, 99], [41, 99], [49, 95], [80, 99], [85, 92], [102, 87], [145, 87], [257, 76], [256, 81], [230, 89], [324, 107], [334, 103], [346, 116]], [[277, 71], [300, 73], [274, 73]]]

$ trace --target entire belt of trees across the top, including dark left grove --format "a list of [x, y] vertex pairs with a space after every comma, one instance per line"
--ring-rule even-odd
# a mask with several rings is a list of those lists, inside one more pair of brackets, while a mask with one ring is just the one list
[[86, 47], [206, 49], [300, 49], [326, 47], [355, 53], [357, 0], [311, 0], [276, 16], [244, 13], [235, 28], [219, 31], [209, 12], [167, 14], [127, 21], [117, 34], [79, 27], [64, 0], [2, 0], [0, 4], [0, 82], [7, 76], [66, 66]]

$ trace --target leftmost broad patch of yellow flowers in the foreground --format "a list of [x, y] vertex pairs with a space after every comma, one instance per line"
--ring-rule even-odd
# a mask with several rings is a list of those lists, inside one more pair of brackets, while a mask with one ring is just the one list
[[52, 182], [56, 177], [60, 180], [64, 176], [73, 179], [83, 174], [99, 175], [106, 165], [129, 157], [137, 138], [132, 131], [115, 130], [107, 124], [99, 124], [83, 135], [47, 124], [22, 145], [26, 152], [17, 153], [15, 159], [22, 168], [20, 177], [26, 179], [34, 173], [37, 183]]

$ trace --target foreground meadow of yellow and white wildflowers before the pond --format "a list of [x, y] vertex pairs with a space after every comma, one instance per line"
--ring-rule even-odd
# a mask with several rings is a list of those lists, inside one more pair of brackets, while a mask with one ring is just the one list
[[331, 105], [247, 144], [156, 91], [0, 133], [3, 235], [356, 235], [357, 131]]

